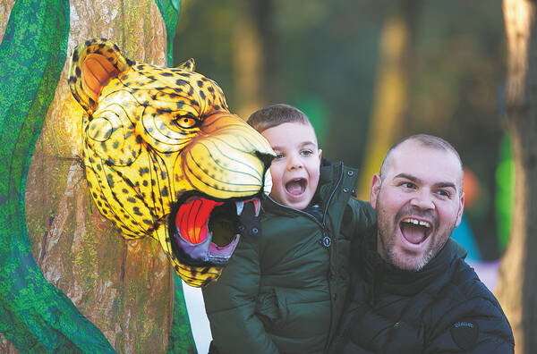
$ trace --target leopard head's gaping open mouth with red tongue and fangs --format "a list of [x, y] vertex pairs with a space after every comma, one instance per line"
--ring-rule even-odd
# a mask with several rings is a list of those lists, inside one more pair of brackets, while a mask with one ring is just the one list
[[259, 198], [218, 200], [198, 192], [177, 202], [169, 233], [176, 257], [191, 265], [226, 265], [240, 239], [240, 217], [258, 217]]

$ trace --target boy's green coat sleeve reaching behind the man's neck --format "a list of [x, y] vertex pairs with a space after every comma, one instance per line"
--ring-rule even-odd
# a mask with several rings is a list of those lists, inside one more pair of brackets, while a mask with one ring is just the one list
[[377, 223], [377, 214], [369, 202], [350, 198], [345, 208], [341, 232], [349, 240], [362, 237]]

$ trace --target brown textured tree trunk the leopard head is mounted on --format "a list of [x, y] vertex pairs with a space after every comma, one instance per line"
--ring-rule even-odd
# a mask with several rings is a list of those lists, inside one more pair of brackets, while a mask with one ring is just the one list
[[[13, 4], [0, 6], [2, 33]], [[87, 39], [110, 38], [128, 58], [166, 64], [166, 29], [153, 0], [71, 0], [70, 22], [68, 56]], [[68, 88], [67, 70], [66, 64], [28, 173], [33, 256], [47, 281], [115, 350], [165, 352], [173, 273], [156, 240], [123, 240], [94, 206], [80, 158], [82, 109]], [[15, 352], [3, 337], [0, 352]]]

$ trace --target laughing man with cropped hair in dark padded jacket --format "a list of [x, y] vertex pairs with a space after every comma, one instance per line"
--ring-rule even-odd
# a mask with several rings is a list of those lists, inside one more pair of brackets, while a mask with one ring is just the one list
[[331, 352], [512, 353], [498, 301], [448, 241], [465, 206], [455, 148], [429, 135], [401, 140], [373, 176], [371, 206], [377, 227], [354, 244]]

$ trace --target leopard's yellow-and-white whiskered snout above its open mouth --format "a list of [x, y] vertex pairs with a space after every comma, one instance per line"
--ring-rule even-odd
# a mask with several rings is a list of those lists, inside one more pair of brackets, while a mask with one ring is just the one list
[[184, 147], [176, 168], [196, 190], [214, 198], [268, 194], [274, 156], [268, 141], [240, 117], [217, 113], [207, 117], [202, 134]]

